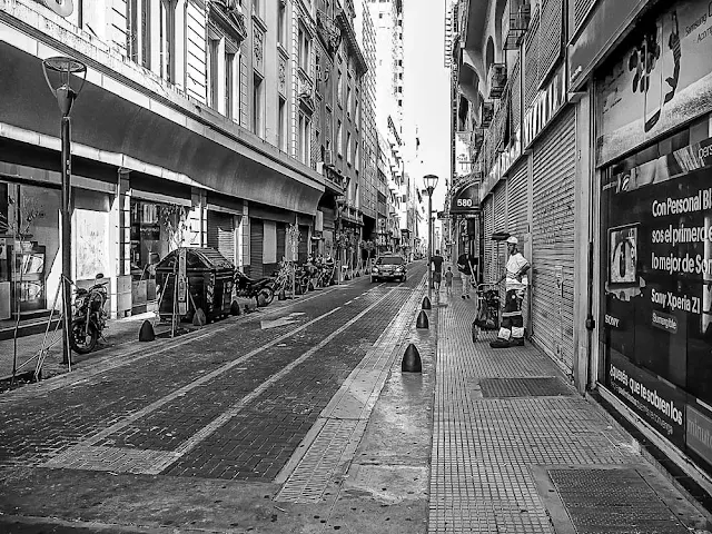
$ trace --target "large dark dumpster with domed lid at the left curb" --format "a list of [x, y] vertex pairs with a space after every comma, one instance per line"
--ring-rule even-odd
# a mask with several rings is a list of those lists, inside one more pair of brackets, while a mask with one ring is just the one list
[[[181, 250], [186, 251], [187, 306], [186, 313], [179, 314], [179, 306], [176, 304], [176, 315], [181, 319], [192, 320], [196, 308], [200, 308], [206, 320], [228, 316], [233, 301], [233, 263], [215, 248], [181, 247], [168, 254], [156, 266], [156, 286], [160, 288], [161, 295], [158, 309], [160, 318], [169, 319], [174, 314], [175, 284]], [[178, 288], [181, 289], [180, 285]], [[178, 301], [180, 300], [182, 298], [178, 296]]]

